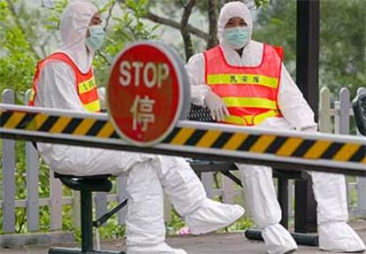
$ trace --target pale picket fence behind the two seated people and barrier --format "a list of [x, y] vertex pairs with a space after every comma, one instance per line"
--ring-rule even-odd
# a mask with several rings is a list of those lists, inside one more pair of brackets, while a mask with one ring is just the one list
[[[366, 88], [358, 89], [358, 94], [366, 93]], [[27, 97], [27, 96], [26, 96]], [[14, 104], [14, 94], [11, 90], [3, 92], [3, 103]], [[320, 109], [319, 109], [319, 127], [324, 133], [350, 134], [353, 111], [351, 108], [351, 96], [348, 89], [341, 89], [337, 98], [331, 96], [329, 89], [322, 89], [320, 92]], [[39, 196], [39, 173], [40, 159], [36, 150], [30, 142], [26, 145], [26, 181], [27, 196], [25, 199], [16, 199], [16, 183], [15, 175], [17, 173], [15, 154], [15, 142], [12, 140], [3, 140], [3, 158], [0, 173], [2, 173], [2, 181], [0, 181], [0, 213], [3, 216], [3, 228], [0, 232], [13, 233], [15, 231], [15, 209], [24, 207], [27, 210], [27, 231], [36, 232], [39, 230], [40, 207], [50, 207], [50, 230], [62, 229], [63, 207], [64, 205], [72, 205], [72, 225], [80, 227], [80, 196], [78, 192], [73, 192], [72, 196], [64, 196], [61, 182], [53, 177], [50, 172], [50, 196], [40, 198]], [[226, 177], [219, 178], [219, 189], [214, 188], [213, 173], [202, 173], [203, 186], [207, 195], [210, 197], [221, 196], [223, 202], [234, 203], [234, 197], [240, 196], [242, 193], [238, 187], [235, 187], [233, 181]], [[366, 217], [366, 179], [365, 178], [347, 178], [347, 191], [349, 201], [349, 211], [351, 217]], [[290, 181], [292, 185], [289, 188], [289, 214], [294, 214], [293, 196], [294, 181]], [[126, 176], [120, 176], [114, 181], [113, 191], [109, 194], [97, 193], [95, 195], [95, 212], [97, 216], [103, 214], [107, 210], [107, 204], [118, 202], [126, 196]], [[235, 199], [237, 201], [238, 198]], [[169, 219], [170, 204], [166, 203], [166, 217]], [[118, 224], [123, 225], [125, 212], [118, 212]]]

